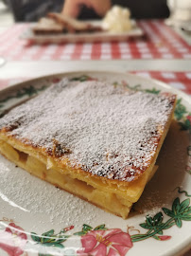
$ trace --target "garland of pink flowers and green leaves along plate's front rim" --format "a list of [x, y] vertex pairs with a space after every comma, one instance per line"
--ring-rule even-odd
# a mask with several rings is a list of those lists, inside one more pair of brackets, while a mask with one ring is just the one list
[[[180, 188], [179, 192], [182, 193]], [[187, 192], [185, 196], [191, 197]], [[73, 255], [78, 256], [125, 256], [133, 243], [154, 238], [159, 241], [171, 239], [171, 236], [164, 234], [165, 229], [170, 229], [173, 226], [182, 228], [183, 221], [191, 221], [191, 206], [190, 199], [184, 199], [182, 203], [177, 197], [172, 209], [163, 208], [165, 215], [169, 218], [164, 222], [164, 213], [162, 211], [155, 214], [153, 217], [146, 216], [146, 222], [141, 223], [140, 227], [148, 229], [144, 234], [141, 234], [138, 229], [138, 234], [130, 235], [130, 229], [127, 232], [122, 229], [107, 229], [105, 225], [97, 226], [93, 229], [91, 226], [84, 224], [82, 230], [75, 232], [73, 235], [65, 234], [67, 231], [74, 229], [74, 226], [61, 229], [58, 234], [51, 229], [44, 232], [42, 235], [31, 232], [31, 239], [40, 244], [44, 251], [39, 253], [39, 256], [50, 256], [48, 247], [64, 248], [64, 242], [71, 239], [73, 236], [80, 236], [81, 247]], [[6, 229], [0, 231], [0, 248], [7, 251], [9, 256], [20, 256], [24, 253], [27, 243], [27, 236], [19, 226], [14, 223], [9, 223]]]

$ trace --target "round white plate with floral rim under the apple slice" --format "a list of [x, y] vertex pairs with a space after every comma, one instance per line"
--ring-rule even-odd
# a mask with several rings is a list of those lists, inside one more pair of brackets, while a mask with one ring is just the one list
[[[0, 255], [169, 256], [191, 245], [191, 101], [163, 82], [125, 73], [75, 72], [23, 82], [0, 92], [1, 112], [67, 76], [123, 82], [178, 95], [159, 169], [127, 220], [100, 210], [0, 157]], [[184, 129], [184, 130], [182, 130]], [[84, 247], [84, 253], [80, 253]]]

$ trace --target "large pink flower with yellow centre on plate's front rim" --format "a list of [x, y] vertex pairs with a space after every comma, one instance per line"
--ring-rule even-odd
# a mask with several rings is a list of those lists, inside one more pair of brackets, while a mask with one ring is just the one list
[[93, 230], [81, 237], [78, 255], [125, 256], [132, 247], [130, 235], [121, 229]]

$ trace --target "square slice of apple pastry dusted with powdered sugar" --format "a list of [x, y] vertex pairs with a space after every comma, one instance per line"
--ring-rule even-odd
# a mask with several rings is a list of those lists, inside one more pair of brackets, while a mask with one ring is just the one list
[[0, 119], [0, 152], [55, 186], [127, 218], [156, 171], [176, 96], [63, 79]]

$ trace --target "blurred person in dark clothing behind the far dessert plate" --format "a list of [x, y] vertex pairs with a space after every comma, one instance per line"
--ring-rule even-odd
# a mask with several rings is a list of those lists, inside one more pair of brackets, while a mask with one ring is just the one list
[[130, 9], [134, 19], [166, 18], [166, 0], [6, 0], [15, 21], [37, 21], [47, 12], [55, 11], [78, 19], [98, 19], [113, 5]]

